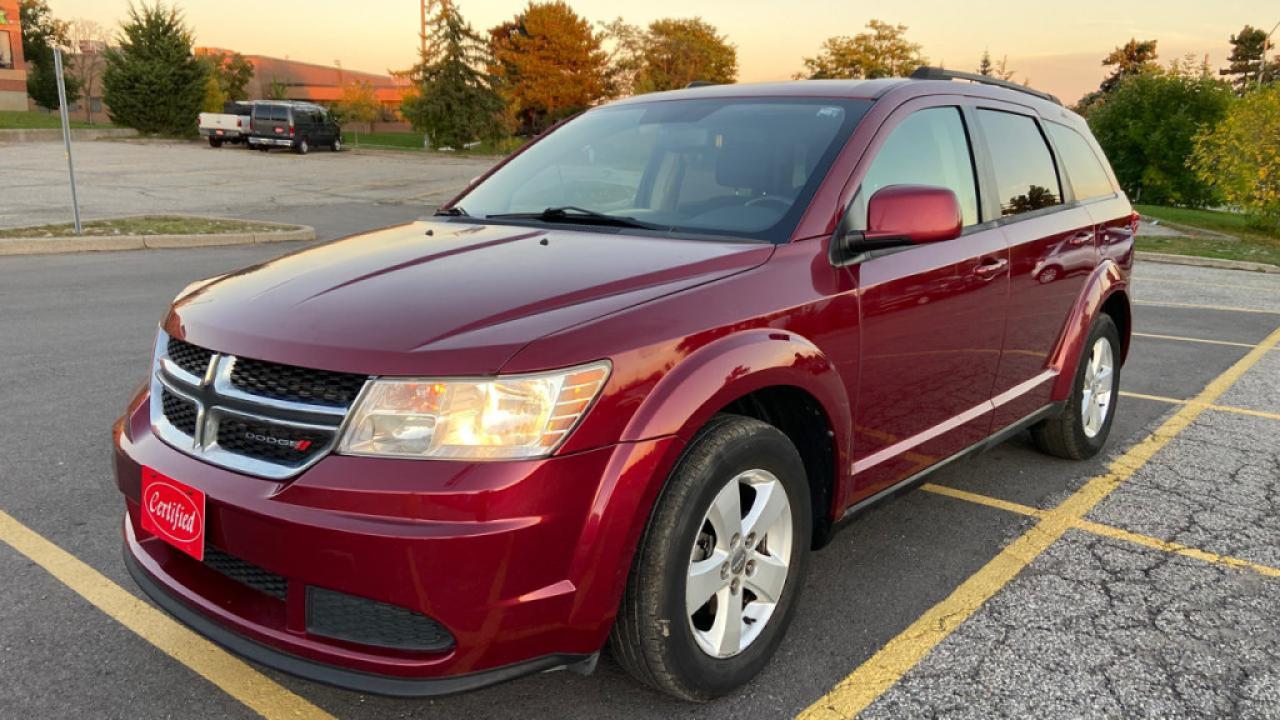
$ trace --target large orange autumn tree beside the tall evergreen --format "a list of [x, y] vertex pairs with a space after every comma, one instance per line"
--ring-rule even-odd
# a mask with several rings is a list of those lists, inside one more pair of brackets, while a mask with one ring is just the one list
[[567, 3], [530, 3], [489, 31], [490, 74], [520, 132], [539, 132], [605, 97], [600, 35]]

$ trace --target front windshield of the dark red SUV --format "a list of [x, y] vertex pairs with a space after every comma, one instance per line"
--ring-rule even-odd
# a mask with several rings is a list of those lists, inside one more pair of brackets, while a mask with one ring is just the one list
[[[532, 145], [456, 206], [471, 218], [596, 224], [593, 213], [649, 234], [785, 242], [869, 106], [792, 97], [605, 106]], [[573, 211], [548, 213], [563, 208]]]

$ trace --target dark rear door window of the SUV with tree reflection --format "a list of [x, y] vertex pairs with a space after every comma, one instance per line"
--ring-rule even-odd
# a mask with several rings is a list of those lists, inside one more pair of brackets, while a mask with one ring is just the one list
[[1002, 215], [1019, 215], [1062, 202], [1053, 156], [1039, 126], [1027, 115], [978, 110], [996, 172]]

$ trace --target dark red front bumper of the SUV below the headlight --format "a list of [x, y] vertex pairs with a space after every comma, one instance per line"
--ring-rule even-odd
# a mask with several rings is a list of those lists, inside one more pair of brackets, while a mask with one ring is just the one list
[[[146, 392], [115, 427], [124, 551], [155, 601], [225, 647], [310, 679], [440, 694], [590, 659], [608, 635], [631, 553], [676, 438], [518, 462], [329, 456], [265, 480], [156, 438]], [[207, 543], [287, 580], [270, 596], [146, 533], [141, 468], [207, 495]], [[323, 637], [308, 588], [425, 615], [453, 638], [417, 651]]]

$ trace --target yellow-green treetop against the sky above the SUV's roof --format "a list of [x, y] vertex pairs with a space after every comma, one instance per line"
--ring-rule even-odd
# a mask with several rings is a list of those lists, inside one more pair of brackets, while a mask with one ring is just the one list
[[804, 59], [796, 79], [901, 77], [928, 64], [920, 46], [906, 38], [906, 26], [873, 19], [867, 29], [824, 40], [815, 56]]

